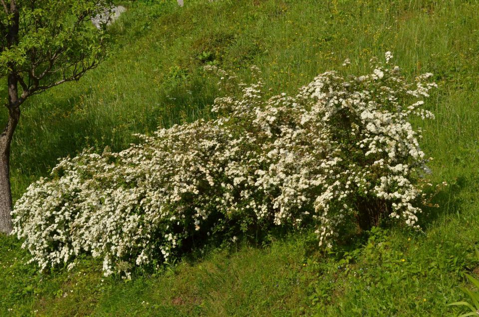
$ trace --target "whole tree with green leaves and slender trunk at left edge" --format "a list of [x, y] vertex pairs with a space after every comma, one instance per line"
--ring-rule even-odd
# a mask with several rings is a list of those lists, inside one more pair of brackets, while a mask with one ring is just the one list
[[110, 0], [0, 0], [0, 72], [8, 110], [0, 135], [0, 232], [9, 234], [10, 144], [25, 100], [64, 82], [79, 80], [106, 54], [106, 25], [90, 22]]

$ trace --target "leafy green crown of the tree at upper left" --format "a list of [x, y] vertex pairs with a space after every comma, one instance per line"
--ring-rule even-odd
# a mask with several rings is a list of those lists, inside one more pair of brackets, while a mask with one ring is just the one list
[[[0, 73], [6, 74], [11, 65], [25, 84], [43, 86], [62, 74], [70, 75], [76, 68], [94, 63], [104, 53], [101, 42], [106, 34], [97, 31], [90, 17], [102, 12], [109, 0], [67, 0], [67, 1], [15, 1], [19, 11], [19, 32], [17, 41], [9, 47], [6, 42], [6, 28], [2, 28]], [[0, 10], [2, 25], [13, 21], [12, 14]], [[48, 71], [50, 78], [41, 77]], [[31, 73], [31, 70], [34, 73]], [[56, 78], [55, 78], [56, 76]], [[40, 78], [34, 83], [35, 77]], [[53, 78], [51, 78], [53, 77]]]

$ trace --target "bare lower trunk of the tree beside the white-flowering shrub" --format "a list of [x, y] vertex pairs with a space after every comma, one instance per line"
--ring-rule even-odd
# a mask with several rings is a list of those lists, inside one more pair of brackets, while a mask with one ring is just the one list
[[8, 124], [0, 135], [0, 232], [6, 234], [10, 234], [12, 230], [10, 215], [12, 207], [10, 188], [10, 144], [19, 118], [19, 108], [9, 111]]

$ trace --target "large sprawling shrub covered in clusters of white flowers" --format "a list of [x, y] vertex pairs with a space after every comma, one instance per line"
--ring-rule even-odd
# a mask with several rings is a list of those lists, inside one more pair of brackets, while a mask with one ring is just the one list
[[120, 153], [85, 150], [17, 201], [14, 232], [41, 269], [81, 253], [103, 258], [104, 274], [169, 261], [192, 241], [235, 239], [240, 230], [317, 226], [318, 242], [341, 240], [351, 223], [386, 217], [417, 227], [429, 171], [421, 131], [409, 122], [436, 86], [408, 83], [372, 59], [372, 73], [325, 72], [296, 96], [267, 99], [260, 71], [244, 85], [215, 66], [242, 96], [217, 98], [217, 119], [142, 136]]

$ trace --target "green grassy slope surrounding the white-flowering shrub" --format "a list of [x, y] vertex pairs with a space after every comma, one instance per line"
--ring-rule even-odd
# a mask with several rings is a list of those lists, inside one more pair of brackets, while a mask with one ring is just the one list
[[470, 256], [479, 243], [478, 1], [175, 2], [124, 2], [111, 58], [79, 83], [29, 101], [12, 146], [15, 198], [58, 157], [85, 146], [122, 149], [132, 133], [207, 116], [217, 91], [199, 70], [203, 51], [242, 78], [256, 64], [273, 92], [294, 93], [345, 58], [347, 71], [364, 72], [372, 55], [392, 50], [407, 76], [430, 71], [440, 84], [428, 104], [436, 120], [419, 124], [435, 158], [433, 180], [452, 184], [437, 198], [441, 208], [429, 210], [424, 233], [385, 229], [346, 255], [319, 255], [306, 233], [295, 234], [264, 248], [211, 251], [130, 282], [103, 279], [91, 259], [41, 275], [23, 264], [18, 242], [0, 237], [0, 314], [458, 313], [446, 304], [463, 298], [462, 272], [478, 272]]

